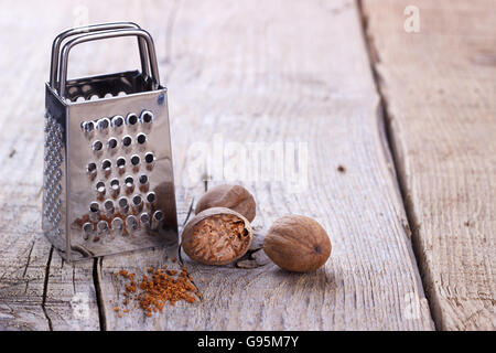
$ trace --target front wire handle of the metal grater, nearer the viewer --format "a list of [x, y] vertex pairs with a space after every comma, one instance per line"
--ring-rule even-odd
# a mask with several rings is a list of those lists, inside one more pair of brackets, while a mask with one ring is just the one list
[[150, 69], [151, 69], [151, 78], [153, 82], [153, 89], [157, 89], [160, 86], [160, 77], [159, 77], [159, 66], [157, 64], [157, 55], [155, 55], [155, 46], [153, 44], [153, 40], [144, 30], [141, 29], [119, 29], [119, 30], [110, 30], [110, 31], [101, 31], [101, 32], [95, 32], [95, 33], [88, 33], [79, 35], [75, 39], [72, 39], [62, 49], [61, 52], [61, 69], [58, 73], [60, 76], [60, 86], [58, 86], [58, 95], [61, 97], [64, 97], [65, 94], [65, 86], [67, 84], [67, 62], [68, 62], [68, 54], [71, 52], [71, 49], [73, 46], [90, 42], [90, 41], [98, 41], [104, 39], [110, 39], [110, 38], [118, 38], [118, 36], [137, 36], [138, 39], [142, 39], [147, 43], [148, 47], [148, 58], [150, 60]]

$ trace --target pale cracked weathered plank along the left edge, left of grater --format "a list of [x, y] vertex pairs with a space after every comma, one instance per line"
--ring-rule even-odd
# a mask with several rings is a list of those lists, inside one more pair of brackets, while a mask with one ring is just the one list
[[71, 8], [60, 6], [15, 2], [0, 11], [0, 46], [11, 49], [0, 58], [2, 330], [99, 329], [93, 264], [64, 265], [41, 233], [43, 84], [53, 35], [72, 25]]

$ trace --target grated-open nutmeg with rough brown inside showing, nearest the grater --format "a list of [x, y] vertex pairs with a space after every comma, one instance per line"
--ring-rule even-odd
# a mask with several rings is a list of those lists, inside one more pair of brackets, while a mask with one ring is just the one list
[[226, 265], [245, 255], [252, 239], [247, 218], [226, 207], [213, 207], [198, 213], [186, 224], [182, 247], [195, 261]]

